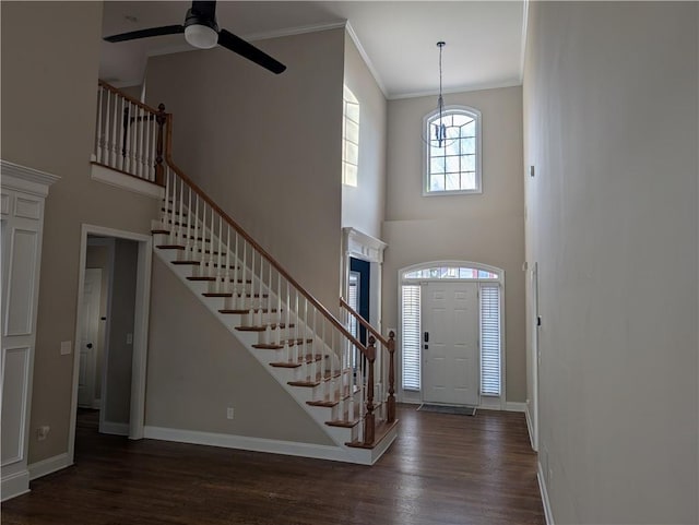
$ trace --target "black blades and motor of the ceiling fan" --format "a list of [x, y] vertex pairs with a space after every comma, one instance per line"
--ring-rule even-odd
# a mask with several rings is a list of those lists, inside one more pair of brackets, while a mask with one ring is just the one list
[[220, 29], [216, 24], [215, 1], [193, 1], [192, 7], [187, 10], [187, 16], [182, 25], [166, 25], [163, 27], [151, 27], [150, 29], [132, 31], [130, 33], [107, 36], [105, 40], [116, 43], [147, 38], [151, 36], [176, 35], [179, 33], [185, 33], [185, 39], [196, 48], [211, 49], [220, 45], [262, 65], [272, 73], [280, 74], [286, 69], [286, 65], [274, 60], [242, 38], [226, 29]]

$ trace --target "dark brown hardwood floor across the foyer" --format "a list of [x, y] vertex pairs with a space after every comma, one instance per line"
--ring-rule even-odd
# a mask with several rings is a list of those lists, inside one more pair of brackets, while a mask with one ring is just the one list
[[372, 467], [100, 435], [81, 414], [75, 465], [2, 503], [3, 524], [544, 524], [522, 414], [399, 406]]

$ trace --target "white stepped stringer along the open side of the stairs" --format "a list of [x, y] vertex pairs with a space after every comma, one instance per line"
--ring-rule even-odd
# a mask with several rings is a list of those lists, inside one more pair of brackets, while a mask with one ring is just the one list
[[[309, 387], [309, 386], [293, 386], [289, 385], [289, 381], [298, 380], [299, 378], [295, 377], [297, 372], [295, 370], [298, 369], [288, 369], [288, 368], [276, 368], [271, 367], [270, 362], [274, 362], [276, 359], [276, 353], [279, 350], [270, 350], [270, 349], [260, 349], [253, 348], [252, 345], [257, 344], [257, 333], [253, 332], [241, 332], [235, 329], [235, 326], [244, 324], [241, 314], [223, 314], [218, 312], [220, 308], [223, 308], [222, 298], [209, 298], [204, 297], [202, 294], [208, 290], [208, 284], [202, 282], [192, 282], [187, 277], [188, 270], [186, 266], [175, 265], [173, 264], [173, 258], [167, 256], [167, 252], [165, 250], [156, 248], [159, 242], [157, 242], [157, 237], [162, 236], [163, 243], [167, 242], [167, 235], [156, 234], [156, 242], [154, 242], [154, 252], [155, 255], [163, 261], [167, 267], [177, 275], [180, 282], [192, 293], [194, 294], [199, 300], [208, 308], [208, 310], [228, 330], [228, 332], [240, 343], [262, 365], [262, 367], [270, 373], [279, 384], [292, 396], [292, 398], [316, 421], [316, 423], [330, 437], [330, 439], [336, 444], [335, 451], [330, 451], [331, 449], [328, 445], [318, 445], [319, 454], [315, 455], [310, 453], [311, 444], [304, 443], [304, 445], [309, 446], [309, 457], [321, 457], [333, 461], [346, 462], [346, 463], [356, 463], [363, 465], [371, 465], [374, 464], [381, 454], [388, 449], [390, 443], [393, 441], [392, 439], [382, 440], [380, 446], [375, 449], [360, 449], [346, 446], [346, 442], [354, 441], [358, 438], [358, 432], [360, 430], [360, 423], [354, 426], [353, 428], [343, 428], [343, 427], [332, 427], [325, 425], [327, 421], [331, 421], [333, 419], [337, 419], [337, 407], [322, 407], [322, 406], [311, 406], [308, 405], [307, 402], [313, 401], [316, 398], [321, 397], [320, 389], [321, 385]], [[321, 343], [322, 347], [327, 345]], [[386, 443], [384, 443], [386, 442]], [[224, 444], [225, 446], [225, 444]], [[287, 451], [280, 451], [280, 453], [288, 453]], [[307, 454], [299, 454], [307, 455]]]

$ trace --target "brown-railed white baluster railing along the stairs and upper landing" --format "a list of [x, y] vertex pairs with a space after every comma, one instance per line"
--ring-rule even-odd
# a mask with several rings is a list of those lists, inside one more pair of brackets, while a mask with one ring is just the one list
[[[171, 135], [164, 105], [152, 108], [99, 82], [95, 162], [165, 188], [162, 231], [178, 248], [178, 260], [194, 267], [192, 278], [209, 283], [205, 295], [223, 298], [222, 313], [245, 319], [239, 330], [261, 333], [254, 346], [283, 350], [289, 366], [303, 363], [291, 384], [318, 387], [309, 405], [339, 406], [329, 425], [359, 426], [358, 440], [347, 444], [372, 446], [377, 406], [386, 401], [384, 420], [395, 421], [393, 337], [384, 339], [362, 320], [371, 336], [367, 345], [359, 342], [177, 167]], [[388, 398], [378, 404], [377, 353], [389, 362]]]

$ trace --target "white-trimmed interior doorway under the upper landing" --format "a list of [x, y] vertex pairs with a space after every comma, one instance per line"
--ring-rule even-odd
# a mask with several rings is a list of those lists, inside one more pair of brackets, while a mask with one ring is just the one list
[[79, 407], [98, 411], [102, 433], [143, 438], [151, 260], [150, 236], [83, 225], [71, 462]]

